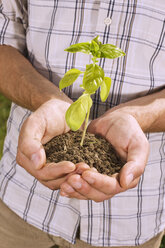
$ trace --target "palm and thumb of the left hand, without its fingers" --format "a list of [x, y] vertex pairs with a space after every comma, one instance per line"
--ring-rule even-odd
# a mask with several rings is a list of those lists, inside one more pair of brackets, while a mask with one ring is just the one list
[[65, 112], [69, 106], [69, 103], [59, 99], [45, 102], [22, 125], [18, 152], [33, 161], [37, 169], [40, 169], [46, 161], [42, 144], [47, 143], [54, 136], [69, 131], [65, 122]]

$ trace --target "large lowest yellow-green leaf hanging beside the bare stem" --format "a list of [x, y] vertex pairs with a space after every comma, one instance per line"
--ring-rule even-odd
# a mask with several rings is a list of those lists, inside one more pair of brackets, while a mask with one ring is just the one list
[[91, 106], [92, 99], [89, 94], [83, 94], [70, 105], [66, 111], [65, 119], [71, 130], [77, 131], [81, 127]]

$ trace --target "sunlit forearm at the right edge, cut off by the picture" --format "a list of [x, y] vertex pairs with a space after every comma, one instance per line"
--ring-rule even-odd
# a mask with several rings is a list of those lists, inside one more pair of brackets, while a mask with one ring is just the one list
[[120, 104], [109, 111], [115, 110], [133, 115], [144, 132], [165, 131], [165, 89]]

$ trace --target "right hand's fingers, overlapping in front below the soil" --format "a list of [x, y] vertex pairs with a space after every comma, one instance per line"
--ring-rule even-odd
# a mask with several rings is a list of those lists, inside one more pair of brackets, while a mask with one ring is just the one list
[[85, 170], [82, 176], [76, 174], [70, 176], [60, 188], [63, 196], [78, 197], [78, 199], [85, 197], [95, 202], [104, 201], [124, 191], [117, 176], [109, 177], [91, 169]]

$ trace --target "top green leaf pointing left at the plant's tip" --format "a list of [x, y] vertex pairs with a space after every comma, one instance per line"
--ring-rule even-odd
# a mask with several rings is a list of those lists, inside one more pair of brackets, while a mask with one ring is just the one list
[[70, 53], [77, 53], [77, 52], [83, 52], [90, 54], [90, 42], [82, 42], [78, 44], [71, 45], [70, 47], [66, 48], [64, 51], [70, 52]]

